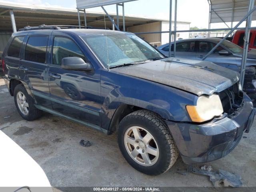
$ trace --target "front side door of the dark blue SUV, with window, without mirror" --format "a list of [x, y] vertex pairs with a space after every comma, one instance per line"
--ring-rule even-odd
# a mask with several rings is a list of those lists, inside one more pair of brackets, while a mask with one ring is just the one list
[[61, 114], [101, 126], [100, 72], [62, 69], [62, 58], [80, 57], [90, 62], [71, 38], [52, 37], [49, 89], [52, 107]]

